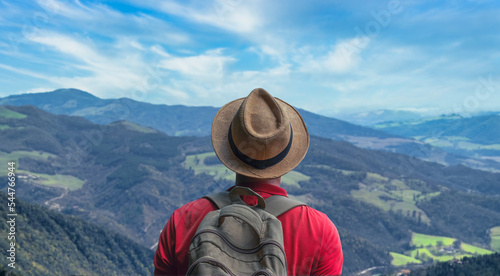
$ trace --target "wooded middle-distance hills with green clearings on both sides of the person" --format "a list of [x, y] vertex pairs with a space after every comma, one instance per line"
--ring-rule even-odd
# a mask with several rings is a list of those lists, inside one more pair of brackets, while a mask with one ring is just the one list
[[[95, 124], [33, 106], [3, 106], [0, 139], [0, 160], [18, 163], [20, 198], [150, 248], [175, 208], [234, 179], [208, 136], [171, 136], [129, 121]], [[290, 196], [337, 225], [347, 275], [389, 266], [390, 252], [410, 254], [412, 233], [495, 247], [500, 174], [312, 136], [291, 176], [283, 177]]]

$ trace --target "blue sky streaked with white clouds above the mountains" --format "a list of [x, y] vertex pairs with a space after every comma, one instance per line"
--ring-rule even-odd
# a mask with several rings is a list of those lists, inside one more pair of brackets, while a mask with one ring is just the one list
[[500, 2], [0, 1], [0, 97], [211, 105], [263, 87], [330, 116], [500, 111]]

